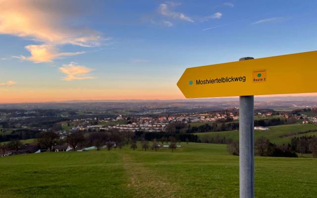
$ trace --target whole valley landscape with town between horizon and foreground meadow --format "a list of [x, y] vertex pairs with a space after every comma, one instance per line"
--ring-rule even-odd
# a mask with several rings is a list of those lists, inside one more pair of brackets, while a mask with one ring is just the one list
[[[270, 126], [275, 125], [315, 124], [317, 123], [315, 104], [315, 101], [257, 101], [254, 129], [267, 131]], [[52, 149], [72, 150], [74, 148], [67, 140], [70, 134], [85, 135], [99, 132], [123, 134], [125, 137], [123, 139], [126, 139], [124, 134], [130, 134], [138, 140], [145, 138], [152, 140], [158, 137], [168, 139], [173, 136], [178, 141], [227, 144], [230, 142], [228, 139], [205, 140], [196, 133], [238, 129], [239, 108], [236, 101], [0, 105], [0, 142], [3, 145], [12, 141], [21, 141], [15, 153], [32, 153], [39, 150], [43, 152]], [[54, 141], [51, 149], [39, 143], [41, 134], [49, 132], [56, 134], [59, 139]], [[112, 142], [113, 145], [118, 144]], [[106, 142], [103, 144], [106, 147]], [[94, 146], [93, 142], [86, 142], [81, 148], [92, 146]]]

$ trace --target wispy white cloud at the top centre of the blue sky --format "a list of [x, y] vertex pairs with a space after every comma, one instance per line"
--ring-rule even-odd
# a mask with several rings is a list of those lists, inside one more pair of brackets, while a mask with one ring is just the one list
[[186, 16], [185, 14], [181, 12], [176, 12], [173, 9], [180, 5], [180, 3], [175, 3], [175, 2], [165, 2], [159, 4], [159, 12], [160, 14], [164, 16], [168, 16], [174, 19], [179, 19], [179, 20], [184, 20], [188, 22], [194, 22], [193, 19], [191, 19], [189, 16]]

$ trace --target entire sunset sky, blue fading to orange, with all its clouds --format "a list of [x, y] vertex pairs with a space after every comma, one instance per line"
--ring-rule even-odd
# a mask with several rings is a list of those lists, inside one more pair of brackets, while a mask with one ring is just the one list
[[0, 103], [184, 99], [187, 67], [316, 50], [316, 19], [316, 0], [0, 0]]

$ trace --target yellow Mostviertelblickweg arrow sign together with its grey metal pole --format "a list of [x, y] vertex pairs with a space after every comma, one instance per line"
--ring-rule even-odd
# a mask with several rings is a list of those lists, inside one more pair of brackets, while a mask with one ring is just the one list
[[186, 98], [239, 96], [240, 198], [254, 198], [254, 96], [317, 92], [317, 51], [187, 68]]

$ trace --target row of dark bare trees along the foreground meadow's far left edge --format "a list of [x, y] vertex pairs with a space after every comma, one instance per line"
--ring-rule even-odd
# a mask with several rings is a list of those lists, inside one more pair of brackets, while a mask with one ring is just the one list
[[[93, 133], [83, 133], [83, 132], [73, 132], [69, 133], [65, 139], [60, 139], [56, 132], [48, 131], [42, 132], [37, 135], [36, 141], [38, 143], [39, 149], [45, 149], [47, 151], [53, 151], [54, 146], [63, 145], [67, 143], [73, 150], [78, 150], [88, 147], [96, 147], [97, 150], [102, 148], [107, 148], [108, 150], [114, 148], [122, 148], [126, 145], [131, 145], [131, 148], [135, 150], [137, 148], [137, 142], [141, 142], [141, 147], [145, 151], [150, 148], [149, 141], [153, 144], [151, 148], [158, 150], [161, 148], [159, 142], [163, 145], [164, 143], [169, 143], [169, 148], [173, 151], [176, 149], [176, 143], [181, 140], [190, 142], [189, 138], [193, 138], [192, 134], [184, 134], [184, 136], [164, 136], [162, 134], [154, 135], [153, 137], [160, 137], [159, 139], [147, 136], [147, 133], [141, 135], [141, 133], [136, 136], [132, 132], [119, 132], [119, 131], [108, 131], [108, 132], [93, 132]], [[181, 135], [181, 134], [177, 134]], [[147, 139], [145, 139], [146, 137]], [[180, 140], [179, 137], [182, 139]], [[187, 138], [189, 137], [189, 138]], [[184, 139], [184, 140], [183, 140]], [[5, 150], [18, 150], [22, 146], [22, 142], [19, 140], [10, 141], [7, 144], [0, 145], [0, 151], [4, 153]]]

